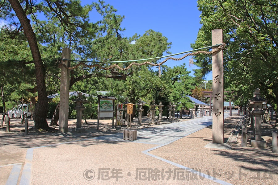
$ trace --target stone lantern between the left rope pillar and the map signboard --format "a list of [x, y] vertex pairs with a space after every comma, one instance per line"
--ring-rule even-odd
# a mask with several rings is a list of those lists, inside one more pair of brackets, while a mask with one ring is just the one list
[[73, 128], [72, 131], [74, 132], [85, 132], [85, 128], [81, 128], [82, 124], [82, 111], [85, 110], [84, 103], [87, 101], [82, 98], [82, 92], [78, 92], [78, 98], [74, 99], [75, 101], [75, 110], [77, 110], [77, 117], [76, 117], [76, 128]]

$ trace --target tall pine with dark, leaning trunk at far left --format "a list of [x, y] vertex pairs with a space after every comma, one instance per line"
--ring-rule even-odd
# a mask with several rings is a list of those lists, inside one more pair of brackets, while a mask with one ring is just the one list
[[[102, 34], [105, 35], [105, 31], [107, 31], [106, 18], [116, 10], [110, 5], [105, 5], [103, 1], [81, 6], [80, 1], [76, 0], [45, 0], [40, 2], [9, 0], [3, 1], [0, 9], [0, 17], [8, 21], [2, 30], [11, 39], [24, 33], [22, 38], [28, 42], [35, 68], [36, 90], [38, 91], [38, 101], [34, 112], [35, 127], [48, 130], [45, 74], [47, 72], [51, 74], [53, 66], [54, 68], [57, 66], [56, 57], [59, 56], [57, 51], [61, 51], [62, 47], [71, 47], [75, 58], [94, 58], [95, 55], [92, 55], [91, 52], [88, 53], [92, 41]], [[93, 9], [101, 15], [105, 15], [103, 22], [101, 20], [95, 23], [90, 22], [88, 13]], [[38, 18], [39, 15], [44, 15], [43, 20]], [[51, 60], [43, 60], [51, 53], [52, 55], [54, 53], [54, 57], [50, 57]], [[57, 69], [54, 71], [53, 74], [57, 75]], [[71, 85], [90, 76], [71, 75]]]

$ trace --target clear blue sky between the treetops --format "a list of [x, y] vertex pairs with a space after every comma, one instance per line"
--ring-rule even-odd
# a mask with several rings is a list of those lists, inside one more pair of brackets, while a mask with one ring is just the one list
[[[86, 2], [82, 1], [85, 4]], [[168, 38], [168, 42], [172, 42], [170, 49], [172, 54], [192, 50], [190, 44], [195, 42], [201, 27], [201, 12], [197, 8], [197, 1], [105, 0], [105, 2], [117, 9], [117, 14], [125, 16], [121, 24], [121, 27], [126, 29], [123, 36], [131, 37], [135, 33], [143, 35], [145, 31], [152, 29], [161, 32]], [[91, 19], [94, 21], [93, 17]], [[186, 64], [188, 71], [197, 68], [189, 67], [189, 57], [181, 61], [168, 60], [165, 65], [173, 67], [183, 63]], [[193, 71], [191, 74], [193, 75]], [[207, 80], [211, 78], [211, 75], [207, 76]]]

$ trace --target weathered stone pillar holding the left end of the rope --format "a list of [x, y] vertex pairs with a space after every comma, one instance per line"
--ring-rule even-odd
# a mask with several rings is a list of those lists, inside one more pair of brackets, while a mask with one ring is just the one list
[[[70, 48], [62, 49], [62, 59], [70, 59]], [[70, 67], [70, 61], [62, 60], [62, 64]], [[69, 94], [70, 94], [70, 69], [61, 66], [61, 86], [60, 86], [60, 112], [59, 112], [59, 132], [68, 132], [69, 128]]]

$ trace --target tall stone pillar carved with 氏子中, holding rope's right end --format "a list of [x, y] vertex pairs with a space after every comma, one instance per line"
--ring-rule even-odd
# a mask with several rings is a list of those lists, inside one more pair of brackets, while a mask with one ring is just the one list
[[[222, 30], [212, 30], [212, 45], [222, 44]], [[213, 47], [216, 49], [217, 47]], [[213, 143], [224, 143], [223, 51], [212, 55], [213, 71]]]

